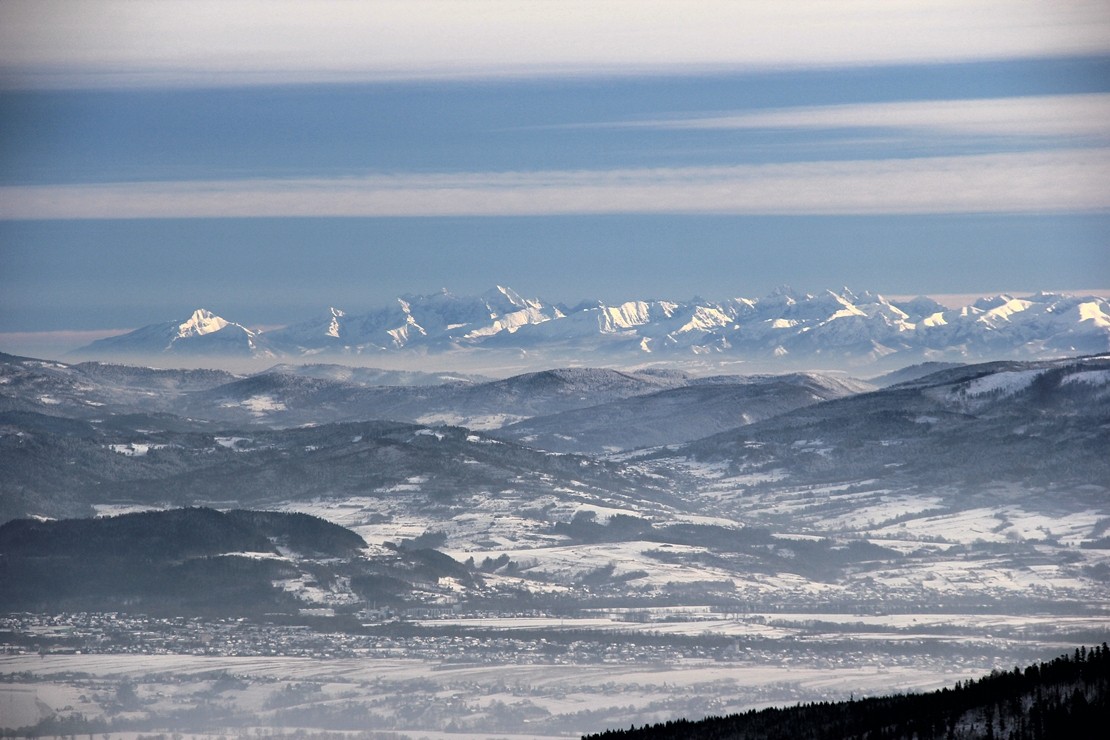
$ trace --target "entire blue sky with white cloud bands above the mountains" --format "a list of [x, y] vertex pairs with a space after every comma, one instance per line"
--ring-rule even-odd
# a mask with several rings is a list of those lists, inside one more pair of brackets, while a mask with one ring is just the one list
[[1110, 4], [0, 2], [0, 349], [495, 284], [1110, 293]]

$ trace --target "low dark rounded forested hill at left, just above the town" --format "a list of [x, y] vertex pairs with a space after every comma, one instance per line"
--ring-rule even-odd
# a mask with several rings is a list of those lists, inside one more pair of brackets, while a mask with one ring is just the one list
[[315, 605], [281, 584], [334, 580], [341, 565], [329, 564], [357, 560], [365, 546], [339, 525], [280, 511], [16, 519], [0, 526], [0, 611], [295, 614]]

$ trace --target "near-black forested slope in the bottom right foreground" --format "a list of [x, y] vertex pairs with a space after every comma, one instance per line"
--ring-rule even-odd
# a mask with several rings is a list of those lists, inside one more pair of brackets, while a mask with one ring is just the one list
[[1103, 642], [931, 693], [675, 720], [584, 740], [1081, 739], [1106, 737], [1108, 721], [1110, 648]]

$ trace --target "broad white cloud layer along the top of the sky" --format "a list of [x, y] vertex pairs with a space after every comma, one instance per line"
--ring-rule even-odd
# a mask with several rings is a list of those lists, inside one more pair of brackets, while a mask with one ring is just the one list
[[1050, 0], [6, 0], [8, 87], [612, 74], [1102, 54]]

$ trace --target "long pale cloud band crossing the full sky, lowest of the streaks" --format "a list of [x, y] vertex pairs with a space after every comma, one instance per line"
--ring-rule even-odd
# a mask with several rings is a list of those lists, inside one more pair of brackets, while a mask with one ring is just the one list
[[1110, 148], [601, 171], [0, 187], [0, 219], [1060, 213], [1110, 209]]

